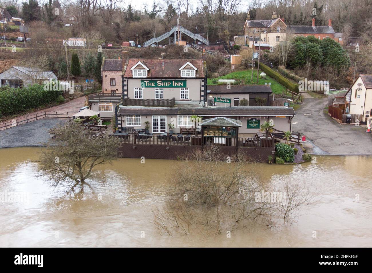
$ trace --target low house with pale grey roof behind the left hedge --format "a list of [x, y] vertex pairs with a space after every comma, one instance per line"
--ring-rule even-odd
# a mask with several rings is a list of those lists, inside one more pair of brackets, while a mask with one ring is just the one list
[[53, 71], [43, 71], [36, 67], [12, 66], [0, 73], [0, 86], [22, 87], [35, 83], [42, 83], [45, 80], [57, 79]]

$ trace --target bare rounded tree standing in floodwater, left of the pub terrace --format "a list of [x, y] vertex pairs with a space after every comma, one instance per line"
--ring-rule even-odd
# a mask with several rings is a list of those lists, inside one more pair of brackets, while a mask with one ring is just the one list
[[86, 180], [92, 178], [94, 167], [119, 157], [120, 144], [114, 137], [89, 138], [84, 135], [86, 131], [86, 126], [74, 121], [51, 129], [54, 137], [45, 143], [38, 170], [53, 186], [62, 185], [69, 191], [79, 186], [83, 190], [89, 186]]

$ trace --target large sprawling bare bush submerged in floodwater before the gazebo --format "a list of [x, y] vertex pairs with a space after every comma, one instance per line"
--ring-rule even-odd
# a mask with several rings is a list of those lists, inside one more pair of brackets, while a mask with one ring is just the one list
[[183, 156], [172, 171], [169, 201], [153, 211], [155, 227], [169, 235], [219, 234], [257, 223], [278, 227], [278, 220], [290, 224], [299, 208], [314, 202], [298, 183], [270, 191], [256, 164], [243, 153], [224, 158], [213, 146]]

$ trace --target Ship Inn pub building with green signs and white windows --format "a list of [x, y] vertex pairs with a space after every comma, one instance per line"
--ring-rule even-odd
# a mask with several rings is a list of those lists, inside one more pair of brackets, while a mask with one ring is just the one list
[[[273, 96], [269, 85], [207, 88], [206, 65], [202, 59], [127, 56], [128, 52], [123, 52], [122, 59], [103, 60], [102, 93], [89, 96], [91, 109], [102, 118], [115, 114], [115, 127], [121, 133], [144, 129], [148, 121], [148, 131], [154, 135], [181, 133], [185, 128], [190, 129], [188, 134], [200, 134], [201, 126], [195, 128], [192, 116], [201, 117], [202, 122], [214, 117], [238, 120], [239, 137], [254, 136], [265, 121], [270, 121], [275, 129], [291, 130], [295, 111], [271, 106]], [[257, 106], [256, 97], [263, 98], [261, 106]], [[243, 99], [248, 106], [241, 106], [247, 105], [242, 103]]]

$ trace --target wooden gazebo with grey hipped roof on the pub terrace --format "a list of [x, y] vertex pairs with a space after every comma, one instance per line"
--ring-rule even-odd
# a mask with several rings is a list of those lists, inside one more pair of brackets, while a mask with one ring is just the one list
[[203, 120], [200, 126], [202, 127], [202, 146], [238, 146], [240, 120], [214, 117]]

